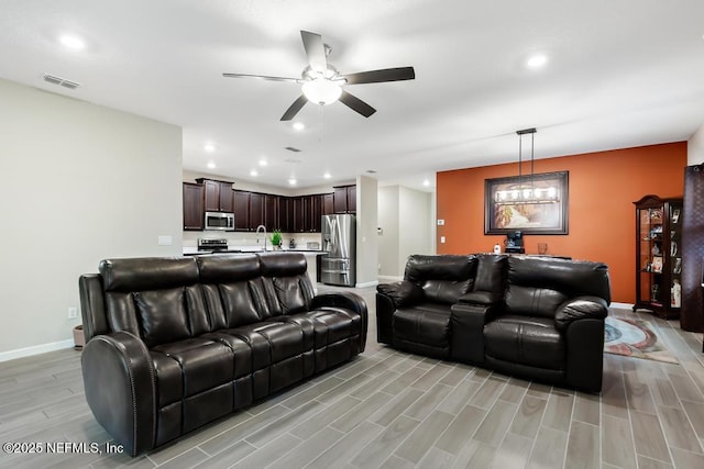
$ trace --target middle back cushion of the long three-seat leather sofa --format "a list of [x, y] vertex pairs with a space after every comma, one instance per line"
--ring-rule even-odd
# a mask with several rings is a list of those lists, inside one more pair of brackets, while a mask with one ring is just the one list
[[263, 319], [266, 304], [260, 259], [255, 254], [200, 256], [198, 268], [211, 331], [239, 327]]

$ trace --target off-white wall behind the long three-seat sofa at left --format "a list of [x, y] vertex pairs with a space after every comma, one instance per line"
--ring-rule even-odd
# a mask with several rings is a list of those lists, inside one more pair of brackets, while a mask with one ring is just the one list
[[2, 360], [72, 339], [100, 259], [180, 255], [183, 209], [177, 126], [0, 80], [0, 129]]

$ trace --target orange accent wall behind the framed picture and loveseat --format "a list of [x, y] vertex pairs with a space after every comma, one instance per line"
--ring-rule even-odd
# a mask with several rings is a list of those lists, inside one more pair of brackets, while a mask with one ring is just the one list
[[[529, 165], [524, 163], [524, 172]], [[686, 142], [536, 159], [535, 172], [570, 171], [569, 234], [525, 235], [527, 254], [600, 260], [609, 268], [612, 299], [636, 301], [636, 215], [646, 194], [682, 197]], [[503, 235], [484, 234], [484, 179], [518, 175], [518, 163], [437, 175], [439, 254], [488, 253]], [[446, 243], [440, 243], [440, 236]]]

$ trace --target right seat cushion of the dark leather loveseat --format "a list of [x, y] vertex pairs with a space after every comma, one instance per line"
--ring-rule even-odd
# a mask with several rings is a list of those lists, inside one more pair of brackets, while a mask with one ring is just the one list
[[564, 369], [564, 340], [554, 320], [504, 315], [484, 326], [486, 355], [504, 361]]

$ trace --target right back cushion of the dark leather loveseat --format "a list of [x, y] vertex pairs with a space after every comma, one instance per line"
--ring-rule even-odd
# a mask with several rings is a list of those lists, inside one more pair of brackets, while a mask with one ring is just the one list
[[564, 301], [592, 295], [610, 302], [608, 268], [602, 263], [508, 257], [507, 312], [552, 317]]

